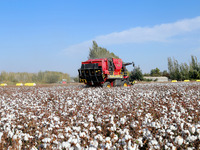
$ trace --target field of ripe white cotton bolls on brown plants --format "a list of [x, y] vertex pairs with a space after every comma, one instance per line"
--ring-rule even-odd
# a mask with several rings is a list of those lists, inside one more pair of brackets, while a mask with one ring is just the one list
[[200, 149], [200, 83], [0, 87], [0, 149]]

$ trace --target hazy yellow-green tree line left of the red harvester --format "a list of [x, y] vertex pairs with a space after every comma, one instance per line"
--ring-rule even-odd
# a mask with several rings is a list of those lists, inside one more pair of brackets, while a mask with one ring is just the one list
[[5, 72], [0, 73], [0, 82], [36, 82], [36, 83], [57, 83], [62, 79], [70, 80], [70, 76], [67, 73], [55, 72], [55, 71], [40, 71], [38, 73], [27, 72]]

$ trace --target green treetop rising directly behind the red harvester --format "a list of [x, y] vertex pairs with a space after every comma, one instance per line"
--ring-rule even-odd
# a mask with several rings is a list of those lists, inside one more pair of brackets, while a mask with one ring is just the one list
[[106, 48], [99, 47], [96, 41], [93, 41], [92, 48], [90, 48], [88, 59], [98, 58], [119, 58], [113, 52], [109, 52]]

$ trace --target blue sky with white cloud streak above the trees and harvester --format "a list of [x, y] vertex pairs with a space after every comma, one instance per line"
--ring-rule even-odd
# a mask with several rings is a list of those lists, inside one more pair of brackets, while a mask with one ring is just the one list
[[167, 70], [168, 57], [199, 60], [199, 8], [199, 0], [1, 0], [0, 71], [77, 76], [93, 40], [143, 73]]

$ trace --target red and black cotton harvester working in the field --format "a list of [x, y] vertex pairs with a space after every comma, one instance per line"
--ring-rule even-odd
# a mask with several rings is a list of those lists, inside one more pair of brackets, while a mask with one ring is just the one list
[[118, 58], [89, 59], [81, 63], [79, 82], [88, 86], [129, 86], [127, 65]]

